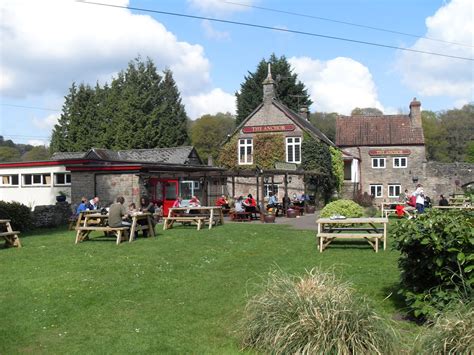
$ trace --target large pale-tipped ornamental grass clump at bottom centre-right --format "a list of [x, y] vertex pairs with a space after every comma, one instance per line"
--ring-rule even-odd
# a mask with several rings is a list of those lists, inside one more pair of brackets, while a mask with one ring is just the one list
[[276, 354], [389, 354], [391, 326], [332, 273], [313, 269], [296, 277], [270, 273], [247, 304], [245, 349]]

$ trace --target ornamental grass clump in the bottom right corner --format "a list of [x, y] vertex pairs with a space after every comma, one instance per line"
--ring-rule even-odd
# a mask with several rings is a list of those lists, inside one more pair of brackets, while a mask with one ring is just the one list
[[416, 354], [473, 354], [474, 302], [440, 313], [417, 339]]

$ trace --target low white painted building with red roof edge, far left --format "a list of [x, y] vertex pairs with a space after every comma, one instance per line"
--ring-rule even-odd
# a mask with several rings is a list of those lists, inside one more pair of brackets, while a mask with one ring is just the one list
[[71, 174], [66, 171], [70, 161], [38, 161], [0, 164], [0, 199], [20, 202], [31, 209], [56, 203], [64, 192], [71, 196]]

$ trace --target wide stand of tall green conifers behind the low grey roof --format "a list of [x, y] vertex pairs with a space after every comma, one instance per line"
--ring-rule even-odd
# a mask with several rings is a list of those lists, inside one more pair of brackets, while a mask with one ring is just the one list
[[172, 73], [166, 70], [162, 76], [151, 59], [137, 58], [110, 85], [72, 84], [50, 149], [179, 146], [188, 142], [186, 122]]

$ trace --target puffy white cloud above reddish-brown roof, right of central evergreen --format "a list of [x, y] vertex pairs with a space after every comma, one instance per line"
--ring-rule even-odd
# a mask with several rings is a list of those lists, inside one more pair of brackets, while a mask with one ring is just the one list
[[345, 57], [321, 61], [309, 57], [289, 58], [298, 78], [308, 88], [313, 109], [350, 114], [355, 107], [384, 110], [369, 69]]

